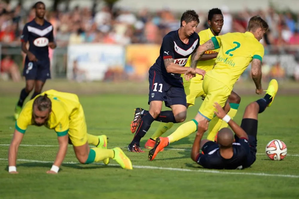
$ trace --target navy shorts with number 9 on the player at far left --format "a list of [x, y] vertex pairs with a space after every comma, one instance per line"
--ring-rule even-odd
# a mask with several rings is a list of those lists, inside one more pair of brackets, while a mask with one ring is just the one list
[[26, 57], [23, 76], [26, 80], [40, 80], [43, 82], [45, 82], [46, 79], [50, 79], [50, 59], [29, 61]]

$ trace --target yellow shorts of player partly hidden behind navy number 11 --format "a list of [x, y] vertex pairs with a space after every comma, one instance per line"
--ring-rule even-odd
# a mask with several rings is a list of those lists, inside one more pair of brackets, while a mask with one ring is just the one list
[[199, 82], [184, 81], [184, 89], [186, 93], [187, 104], [189, 104], [189, 107], [195, 104], [196, 98], [206, 97], [206, 94], [202, 89], [202, 82], [203, 81], [199, 81]]

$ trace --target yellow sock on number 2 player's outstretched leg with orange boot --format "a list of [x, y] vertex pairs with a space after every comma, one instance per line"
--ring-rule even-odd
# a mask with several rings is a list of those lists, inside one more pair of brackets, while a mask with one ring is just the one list
[[194, 133], [197, 131], [197, 125], [198, 122], [196, 120], [191, 120], [189, 122], [186, 122], [179, 126], [179, 128], [176, 129], [175, 132], [170, 134], [167, 138], [169, 139], [169, 143], [173, 143], [175, 141], [178, 141], [184, 137], [187, 137], [191, 133]]

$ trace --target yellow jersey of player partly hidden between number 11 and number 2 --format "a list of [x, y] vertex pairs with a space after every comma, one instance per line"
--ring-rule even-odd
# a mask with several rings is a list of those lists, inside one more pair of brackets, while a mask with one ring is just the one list
[[[214, 36], [213, 33], [212, 33], [212, 31], [210, 30], [210, 28], [208, 28], [206, 30], [200, 31], [198, 33], [198, 35], [199, 35], [199, 44], [200, 45], [202, 45], [205, 42], [209, 41]], [[218, 53], [219, 50], [220, 50], [219, 48], [215, 49], [215, 50], [207, 50], [205, 52], [205, 54]], [[206, 72], [209, 71], [209, 70], [212, 70], [213, 67], [214, 67], [214, 64], [215, 64], [215, 59], [216, 58], [210, 59], [210, 60], [206, 60], [206, 61], [198, 61], [196, 67], [200, 68], [202, 70], [205, 70]], [[189, 56], [189, 58], [188, 58], [187, 63], [186, 63], [185, 66], [190, 67], [190, 65], [191, 65], [191, 55]], [[202, 81], [201, 78], [202, 78], [202, 75], [196, 74], [196, 76], [193, 77], [190, 80], [190, 82], [200, 82], [200, 81]], [[186, 81], [185, 78], [183, 78], [183, 80]]]

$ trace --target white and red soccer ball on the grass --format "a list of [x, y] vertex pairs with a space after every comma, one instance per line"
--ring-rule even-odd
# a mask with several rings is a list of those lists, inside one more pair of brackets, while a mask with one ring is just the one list
[[272, 140], [266, 146], [266, 154], [271, 160], [282, 160], [286, 157], [286, 144], [280, 140]]

